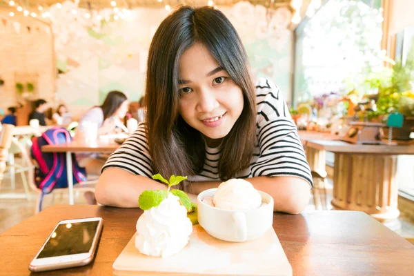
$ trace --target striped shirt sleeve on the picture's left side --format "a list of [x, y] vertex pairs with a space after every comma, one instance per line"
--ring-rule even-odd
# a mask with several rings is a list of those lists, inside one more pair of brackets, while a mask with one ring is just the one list
[[124, 144], [110, 155], [102, 171], [110, 167], [128, 170], [135, 175], [152, 176], [152, 159], [144, 124], [139, 124]]

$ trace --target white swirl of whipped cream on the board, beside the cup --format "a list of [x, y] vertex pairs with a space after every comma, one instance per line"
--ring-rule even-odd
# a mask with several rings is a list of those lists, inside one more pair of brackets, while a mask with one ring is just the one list
[[139, 217], [135, 247], [148, 256], [168, 257], [186, 246], [192, 232], [186, 207], [179, 197], [169, 194], [159, 206], [145, 210]]

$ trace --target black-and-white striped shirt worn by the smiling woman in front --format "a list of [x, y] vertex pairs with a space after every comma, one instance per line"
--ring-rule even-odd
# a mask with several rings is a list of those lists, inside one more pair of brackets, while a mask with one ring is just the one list
[[[288, 112], [282, 92], [274, 83], [261, 78], [256, 83], [257, 119], [256, 146], [250, 166], [235, 177], [293, 176], [313, 186], [311, 170], [306, 161], [297, 128]], [[189, 181], [220, 181], [218, 164], [220, 148], [206, 146], [204, 166], [198, 175], [188, 176]], [[109, 167], [128, 170], [135, 175], [151, 177], [152, 161], [144, 124], [112, 155], [102, 170]]]

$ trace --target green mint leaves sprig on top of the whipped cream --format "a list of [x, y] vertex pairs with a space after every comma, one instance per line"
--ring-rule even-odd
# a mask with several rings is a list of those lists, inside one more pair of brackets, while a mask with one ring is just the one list
[[166, 199], [168, 193], [172, 193], [172, 195], [179, 197], [179, 201], [181, 201], [182, 206], [186, 207], [187, 210], [191, 210], [191, 200], [186, 193], [182, 190], [172, 190], [170, 192], [170, 188], [172, 186], [178, 185], [181, 181], [186, 180], [187, 177], [171, 175], [170, 181], [168, 181], [160, 174], [157, 174], [152, 175], [152, 179], [159, 180], [167, 184], [168, 190], [144, 190], [144, 192], [139, 195], [139, 208], [142, 210], [149, 210], [152, 207], [157, 207], [161, 204], [161, 201]]

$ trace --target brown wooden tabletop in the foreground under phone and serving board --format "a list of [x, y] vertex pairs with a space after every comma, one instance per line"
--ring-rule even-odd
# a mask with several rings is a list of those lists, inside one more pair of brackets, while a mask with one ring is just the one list
[[[61, 219], [95, 216], [103, 217], [95, 262], [37, 275], [112, 275], [112, 264], [134, 235], [141, 213], [104, 206], [47, 208], [0, 234], [0, 275], [29, 275], [28, 264]], [[273, 228], [293, 275], [400, 276], [414, 270], [414, 246], [362, 212], [275, 213]]]

